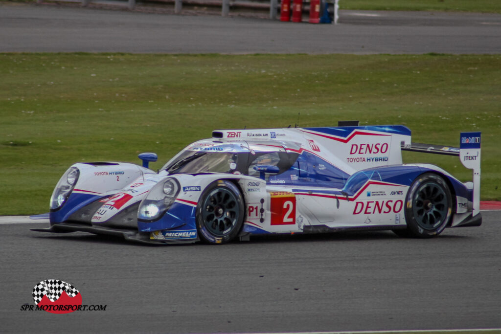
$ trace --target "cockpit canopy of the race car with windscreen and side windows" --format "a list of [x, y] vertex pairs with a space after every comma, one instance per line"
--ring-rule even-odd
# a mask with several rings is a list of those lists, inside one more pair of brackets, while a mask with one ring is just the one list
[[342, 188], [349, 175], [299, 144], [279, 141], [202, 140], [187, 146], [162, 169], [169, 173], [230, 173], [260, 177], [254, 167], [276, 166], [270, 184]]

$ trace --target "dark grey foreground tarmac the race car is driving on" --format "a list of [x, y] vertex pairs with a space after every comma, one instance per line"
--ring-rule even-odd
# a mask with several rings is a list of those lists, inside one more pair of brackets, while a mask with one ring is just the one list
[[[0, 225], [0, 331], [260, 332], [501, 327], [501, 222], [434, 239], [391, 232], [149, 246]], [[21, 311], [68, 281], [102, 312]]]

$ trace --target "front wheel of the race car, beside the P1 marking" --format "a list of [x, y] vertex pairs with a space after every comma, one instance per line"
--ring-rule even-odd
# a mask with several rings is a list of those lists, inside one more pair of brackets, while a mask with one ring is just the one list
[[244, 202], [238, 188], [217, 180], [205, 188], [196, 208], [196, 226], [202, 241], [225, 243], [238, 235], [244, 218]]

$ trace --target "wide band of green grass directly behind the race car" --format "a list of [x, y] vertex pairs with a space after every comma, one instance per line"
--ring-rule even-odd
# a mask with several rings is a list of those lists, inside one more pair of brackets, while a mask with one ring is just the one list
[[[78, 161], [160, 168], [213, 129], [403, 124], [458, 146], [482, 131], [483, 200], [501, 200], [501, 56], [0, 54], [0, 215], [48, 211]], [[404, 152], [462, 181], [458, 158]]]

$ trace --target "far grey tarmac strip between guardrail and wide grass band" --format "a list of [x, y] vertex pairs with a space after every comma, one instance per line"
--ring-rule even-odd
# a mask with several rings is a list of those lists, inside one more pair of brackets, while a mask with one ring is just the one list
[[339, 22], [0, 3], [0, 52], [501, 53], [501, 15], [340, 11]]

